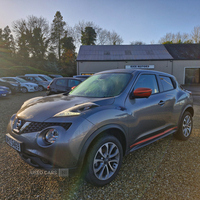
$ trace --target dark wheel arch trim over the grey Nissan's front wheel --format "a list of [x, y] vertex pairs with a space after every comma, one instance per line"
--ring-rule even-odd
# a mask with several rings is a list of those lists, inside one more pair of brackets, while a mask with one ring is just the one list
[[126, 154], [127, 151], [127, 141], [126, 141], [126, 135], [125, 135], [125, 131], [118, 125], [108, 125], [108, 126], [104, 126], [99, 128], [98, 130], [96, 130], [85, 142], [80, 156], [79, 156], [79, 160], [78, 160], [78, 168], [81, 170], [85, 158], [89, 152], [89, 149], [94, 145], [94, 143], [100, 139], [101, 137], [104, 137], [105, 135], [112, 135], [114, 137], [116, 137], [119, 142], [122, 145], [122, 149], [123, 149], [123, 155]]

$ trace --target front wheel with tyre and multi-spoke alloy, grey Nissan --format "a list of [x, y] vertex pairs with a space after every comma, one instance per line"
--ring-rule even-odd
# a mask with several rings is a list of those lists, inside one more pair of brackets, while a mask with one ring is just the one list
[[122, 158], [122, 145], [117, 138], [106, 136], [96, 140], [86, 160], [86, 181], [96, 186], [110, 183], [119, 172]]

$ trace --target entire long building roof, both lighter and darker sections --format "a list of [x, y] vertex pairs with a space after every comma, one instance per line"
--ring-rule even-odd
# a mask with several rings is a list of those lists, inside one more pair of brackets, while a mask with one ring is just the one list
[[200, 60], [200, 44], [81, 46], [77, 61]]

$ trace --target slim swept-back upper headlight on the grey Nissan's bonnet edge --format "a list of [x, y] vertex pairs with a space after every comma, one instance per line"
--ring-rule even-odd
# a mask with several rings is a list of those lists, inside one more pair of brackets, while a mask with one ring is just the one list
[[53, 117], [72, 117], [72, 116], [78, 116], [80, 115], [82, 112], [90, 110], [92, 108], [95, 107], [99, 107], [99, 105], [95, 104], [95, 103], [83, 103], [77, 106], [74, 106], [72, 108], [68, 108], [66, 110], [63, 110], [57, 114], [55, 114]]

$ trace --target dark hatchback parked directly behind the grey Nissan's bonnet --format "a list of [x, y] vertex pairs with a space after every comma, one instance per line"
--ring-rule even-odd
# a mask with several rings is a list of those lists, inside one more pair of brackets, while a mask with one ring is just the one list
[[70, 92], [72, 87], [79, 85], [81, 82], [80, 79], [70, 77], [54, 78], [47, 87], [47, 95]]

